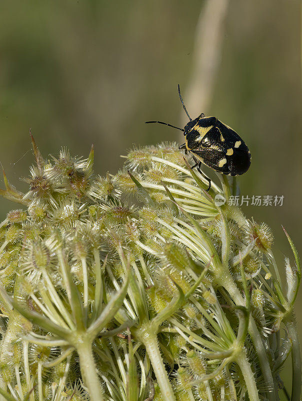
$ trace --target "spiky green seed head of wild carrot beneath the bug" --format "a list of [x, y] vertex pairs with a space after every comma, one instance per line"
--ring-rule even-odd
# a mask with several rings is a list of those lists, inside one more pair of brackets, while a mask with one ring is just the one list
[[[94, 176], [62, 149], [36, 165], [0, 224], [0, 392], [19, 401], [278, 399], [292, 353], [299, 259], [287, 289], [268, 226], [216, 195], [175, 143]], [[284, 338], [280, 327], [285, 327]], [[297, 398], [292, 398], [296, 400]]]

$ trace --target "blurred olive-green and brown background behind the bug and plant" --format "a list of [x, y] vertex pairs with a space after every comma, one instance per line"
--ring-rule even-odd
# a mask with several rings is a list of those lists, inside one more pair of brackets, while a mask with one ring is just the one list
[[[282, 207], [244, 208], [275, 236], [283, 268], [301, 228], [300, 2], [295, 0], [21, 1], [0, 6], [0, 161], [19, 181], [33, 161], [28, 130], [44, 156], [68, 146], [95, 171], [115, 172], [133, 143], [182, 143], [185, 123], [215, 115], [244, 138], [244, 195], [284, 195]], [[2, 182], [3, 187], [3, 182]], [[0, 212], [14, 208], [0, 199]], [[302, 318], [296, 312], [299, 332]]]

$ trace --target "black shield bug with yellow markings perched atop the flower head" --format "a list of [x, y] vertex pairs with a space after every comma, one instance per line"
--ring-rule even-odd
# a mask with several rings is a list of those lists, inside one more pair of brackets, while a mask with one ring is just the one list
[[146, 124], [156, 122], [183, 131], [185, 143], [179, 146], [179, 149], [185, 149], [185, 152], [191, 153], [195, 162], [191, 168], [196, 167], [199, 173], [208, 180], [207, 190], [210, 188], [211, 180], [200, 170], [201, 163], [227, 175], [241, 175], [247, 171], [251, 156], [240, 136], [216, 117], [205, 117], [201, 113], [192, 120], [183, 104], [179, 85], [178, 94], [190, 120], [184, 129], [162, 121], [146, 121]]

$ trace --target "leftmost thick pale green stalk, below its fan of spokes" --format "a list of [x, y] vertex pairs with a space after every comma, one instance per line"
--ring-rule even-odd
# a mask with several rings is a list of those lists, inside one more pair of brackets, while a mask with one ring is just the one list
[[79, 356], [79, 366], [83, 383], [87, 388], [91, 401], [103, 401], [104, 397], [96, 373], [91, 344], [83, 342], [77, 345], [76, 351]]

